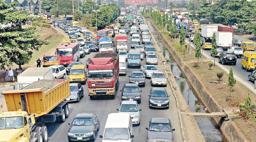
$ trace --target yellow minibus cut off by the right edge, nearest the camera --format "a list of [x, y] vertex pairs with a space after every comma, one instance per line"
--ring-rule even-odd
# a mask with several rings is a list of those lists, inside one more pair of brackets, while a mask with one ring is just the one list
[[245, 51], [242, 56], [242, 68], [247, 72], [248, 70], [255, 70], [255, 59], [256, 52], [255, 51]]

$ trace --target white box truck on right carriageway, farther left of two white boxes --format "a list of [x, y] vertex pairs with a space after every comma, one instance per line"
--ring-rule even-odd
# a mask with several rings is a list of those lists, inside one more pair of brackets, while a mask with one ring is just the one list
[[202, 31], [201, 36], [204, 37], [204, 39], [212, 39], [213, 32], [218, 31], [218, 26], [213, 24], [203, 24], [202, 25]]

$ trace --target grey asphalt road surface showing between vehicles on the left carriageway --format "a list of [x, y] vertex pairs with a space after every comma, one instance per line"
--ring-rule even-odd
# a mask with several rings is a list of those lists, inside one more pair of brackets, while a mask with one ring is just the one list
[[[57, 28], [57, 27], [56, 27]], [[57, 28], [58, 31], [63, 32], [60, 28]], [[65, 33], [64, 33], [65, 34]], [[128, 47], [130, 49], [131, 36], [128, 36]], [[83, 59], [80, 59], [80, 62], [85, 64], [85, 61], [88, 57], [93, 57], [97, 52], [92, 52], [90, 55], [86, 55]], [[142, 61], [142, 65], [146, 64], [145, 60]], [[162, 70], [160, 65], [156, 65], [157, 68]], [[106, 119], [108, 114], [113, 112], [118, 112], [116, 109], [119, 107], [121, 102], [121, 89], [125, 83], [129, 83], [129, 75], [131, 72], [140, 69], [127, 69], [126, 76], [119, 76], [119, 88], [118, 93], [114, 99], [109, 98], [100, 98], [95, 100], [90, 100], [87, 93], [87, 85], [83, 85], [84, 87], [84, 98], [81, 99], [79, 103], [69, 103], [70, 115], [69, 118], [65, 121], [65, 123], [50, 123], [47, 124], [48, 133], [49, 133], [49, 141], [68, 141], [67, 133], [69, 129], [68, 123], [71, 123], [76, 114], [82, 112], [94, 113], [97, 114], [100, 119], [100, 131], [96, 135], [96, 141], [101, 141], [99, 135], [102, 135], [104, 132], [104, 126], [106, 123]], [[169, 86], [167, 86], [168, 88]], [[173, 127], [176, 128], [174, 131], [174, 139], [175, 141], [182, 141], [182, 134], [179, 126], [179, 118], [177, 115], [177, 108], [174, 96], [169, 91], [168, 93], [171, 95], [170, 97], [170, 108], [168, 109], [151, 109], [148, 107], [148, 93], [151, 89], [150, 79], [146, 79], [146, 86], [141, 87], [142, 89], [142, 102], [139, 105], [142, 108], [141, 111], [141, 124], [139, 126], [133, 127], [134, 139], [133, 141], [146, 141], [147, 138], [147, 130], [148, 121], [152, 117], [166, 117], [170, 118]], [[170, 90], [170, 89], [167, 89]]]

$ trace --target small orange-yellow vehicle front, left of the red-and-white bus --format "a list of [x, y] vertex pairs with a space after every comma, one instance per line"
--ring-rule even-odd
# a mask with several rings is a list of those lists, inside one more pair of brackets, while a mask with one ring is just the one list
[[59, 55], [44, 55], [42, 59], [43, 67], [51, 65], [60, 65], [60, 56]]

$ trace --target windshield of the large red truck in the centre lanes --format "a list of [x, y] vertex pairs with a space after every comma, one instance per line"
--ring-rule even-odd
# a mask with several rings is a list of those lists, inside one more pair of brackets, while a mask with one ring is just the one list
[[113, 77], [113, 70], [89, 70], [90, 78]]

